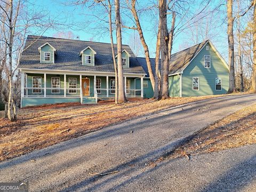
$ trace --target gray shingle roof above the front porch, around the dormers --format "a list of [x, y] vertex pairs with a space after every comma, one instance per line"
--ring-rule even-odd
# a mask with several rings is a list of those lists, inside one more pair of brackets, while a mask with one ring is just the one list
[[[37, 39], [37, 40], [36, 40]], [[35, 42], [32, 44], [32, 42]], [[55, 49], [54, 63], [40, 63], [40, 54], [38, 47], [44, 43], [50, 43]], [[30, 45], [30, 46], [29, 46]], [[29, 46], [29, 47], [28, 47]], [[84, 66], [79, 53], [90, 46], [95, 54], [95, 65]], [[116, 45], [115, 52], [116, 52]], [[28, 49], [26, 49], [28, 47]], [[73, 39], [62, 39], [53, 37], [38, 37], [28, 36], [25, 44], [25, 51], [22, 53], [19, 68], [29, 69], [55, 69], [55, 70], [73, 70], [73, 71], [100, 71], [114, 72], [113, 58], [111, 52], [111, 44], [97, 43], [88, 41], [79, 41]], [[140, 66], [131, 48], [128, 45], [123, 45], [122, 49], [131, 54], [130, 68], [124, 68], [124, 73], [145, 74], [145, 71]]]

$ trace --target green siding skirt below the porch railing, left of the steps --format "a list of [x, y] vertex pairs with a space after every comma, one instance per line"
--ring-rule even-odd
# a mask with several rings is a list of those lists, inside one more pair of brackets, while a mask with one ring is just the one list
[[80, 98], [22, 98], [22, 107], [63, 102], [80, 102]]

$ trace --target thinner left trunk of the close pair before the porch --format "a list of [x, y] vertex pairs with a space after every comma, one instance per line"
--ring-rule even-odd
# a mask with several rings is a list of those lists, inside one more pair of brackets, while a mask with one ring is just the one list
[[[112, 6], [110, 0], [108, 0], [108, 17], [109, 17], [109, 33], [110, 33], [110, 41], [111, 41], [111, 50], [112, 50], [112, 58], [114, 62], [115, 68], [115, 103], [118, 103], [118, 73], [117, 73], [117, 66], [116, 66], [116, 54], [114, 49], [114, 42], [113, 42], [113, 28], [112, 28]], [[108, 91], [108, 90], [107, 90]]]

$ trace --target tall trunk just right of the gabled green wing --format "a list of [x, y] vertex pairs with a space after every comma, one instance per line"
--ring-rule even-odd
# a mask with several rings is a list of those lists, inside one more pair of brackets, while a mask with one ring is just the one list
[[234, 34], [233, 34], [233, 0], [227, 0], [228, 16], [228, 65], [229, 65], [229, 89], [228, 93], [233, 93], [235, 89], [235, 59], [234, 59]]

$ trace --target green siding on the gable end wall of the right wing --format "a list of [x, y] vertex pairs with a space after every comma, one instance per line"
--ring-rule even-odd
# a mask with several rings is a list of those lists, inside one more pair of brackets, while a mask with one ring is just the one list
[[[228, 91], [229, 71], [209, 45], [201, 50], [182, 74], [182, 97], [224, 94]], [[204, 68], [204, 55], [211, 55], [211, 68]], [[193, 77], [199, 77], [199, 90], [193, 90]], [[215, 78], [221, 78], [222, 90], [215, 91]]]

